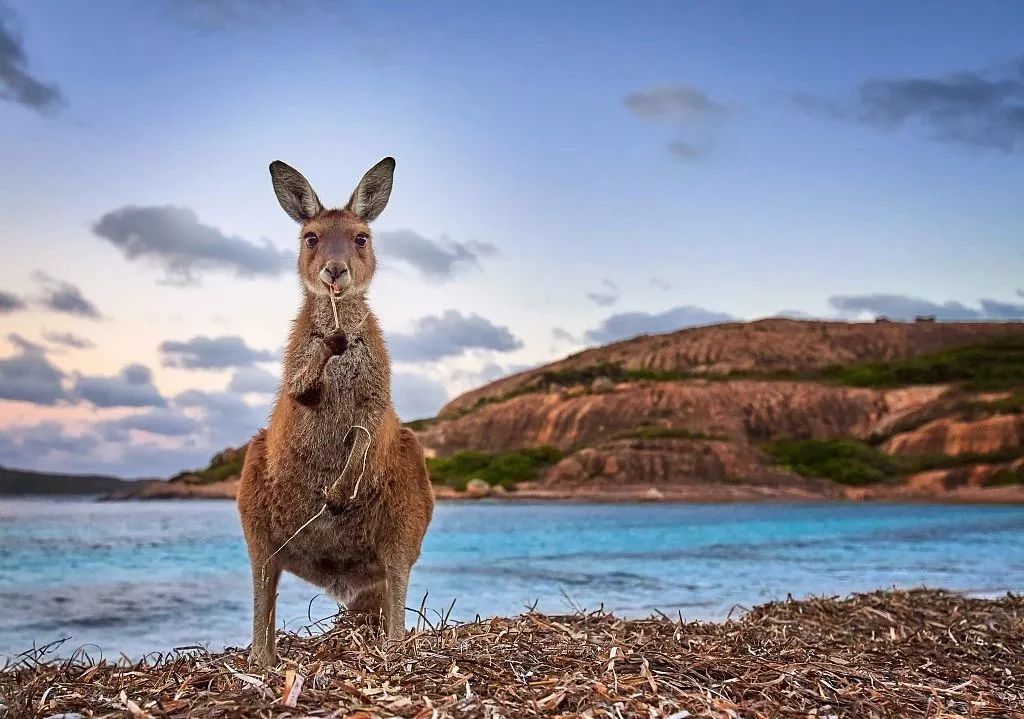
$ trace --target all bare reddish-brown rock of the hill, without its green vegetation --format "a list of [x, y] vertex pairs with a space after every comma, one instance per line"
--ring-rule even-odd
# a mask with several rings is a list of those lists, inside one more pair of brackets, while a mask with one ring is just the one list
[[[987, 490], [996, 470], [984, 467], [922, 473], [901, 488], [842, 489], [773, 467], [758, 446], [782, 437], [855, 438], [882, 441], [882, 450], [901, 455], [1012, 453], [1024, 448], [1020, 415], [959, 419], [967, 404], [1000, 397], [971, 397], [944, 385], [866, 389], [722, 376], [904, 358], [1022, 333], [1018, 324], [767, 320], [640, 337], [464, 394], [420, 437], [438, 456], [556, 447], [566, 457], [522, 488], [553, 496], [642, 498], [654, 490], [666, 497], [729, 498], [746, 492], [739, 485], [771, 488], [779, 496], [859, 498]], [[613, 384], [601, 375], [588, 379], [592, 372], [568, 372], [602, 365], [708, 378]], [[573, 377], [575, 384], [566, 385]]]

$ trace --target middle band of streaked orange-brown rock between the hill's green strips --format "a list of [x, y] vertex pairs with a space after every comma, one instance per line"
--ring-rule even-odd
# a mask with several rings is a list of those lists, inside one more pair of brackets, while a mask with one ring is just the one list
[[633, 383], [601, 394], [521, 394], [437, 422], [420, 438], [443, 456], [465, 449], [504, 452], [540, 445], [568, 451], [626, 437], [645, 426], [741, 443], [776, 437], [866, 437], [881, 422], [943, 391], [753, 380]]

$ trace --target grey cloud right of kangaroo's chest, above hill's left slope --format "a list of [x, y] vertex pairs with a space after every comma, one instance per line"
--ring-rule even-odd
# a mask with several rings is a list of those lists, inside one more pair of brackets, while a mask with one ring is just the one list
[[395, 360], [419, 362], [461, 354], [467, 349], [506, 352], [522, 347], [522, 341], [507, 327], [495, 325], [479, 314], [467, 316], [449, 309], [439, 316], [416, 320], [409, 334], [392, 334], [388, 346]]

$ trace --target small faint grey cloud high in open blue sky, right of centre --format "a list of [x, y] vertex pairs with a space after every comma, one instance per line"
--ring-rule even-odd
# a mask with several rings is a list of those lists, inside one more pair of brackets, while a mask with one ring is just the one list
[[703, 160], [711, 154], [715, 133], [732, 114], [729, 105], [689, 85], [660, 85], [633, 92], [623, 101], [641, 120], [675, 128], [680, 136], [666, 147], [686, 162]]

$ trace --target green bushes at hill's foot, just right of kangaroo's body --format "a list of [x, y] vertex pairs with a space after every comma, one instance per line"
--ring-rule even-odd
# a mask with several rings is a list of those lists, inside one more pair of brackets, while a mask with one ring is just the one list
[[470, 479], [482, 479], [492, 487], [513, 490], [520, 481], [536, 479], [541, 470], [559, 459], [553, 447], [526, 447], [514, 452], [459, 452], [451, 457], [427, 459], [430, 479], [462, 492]]

